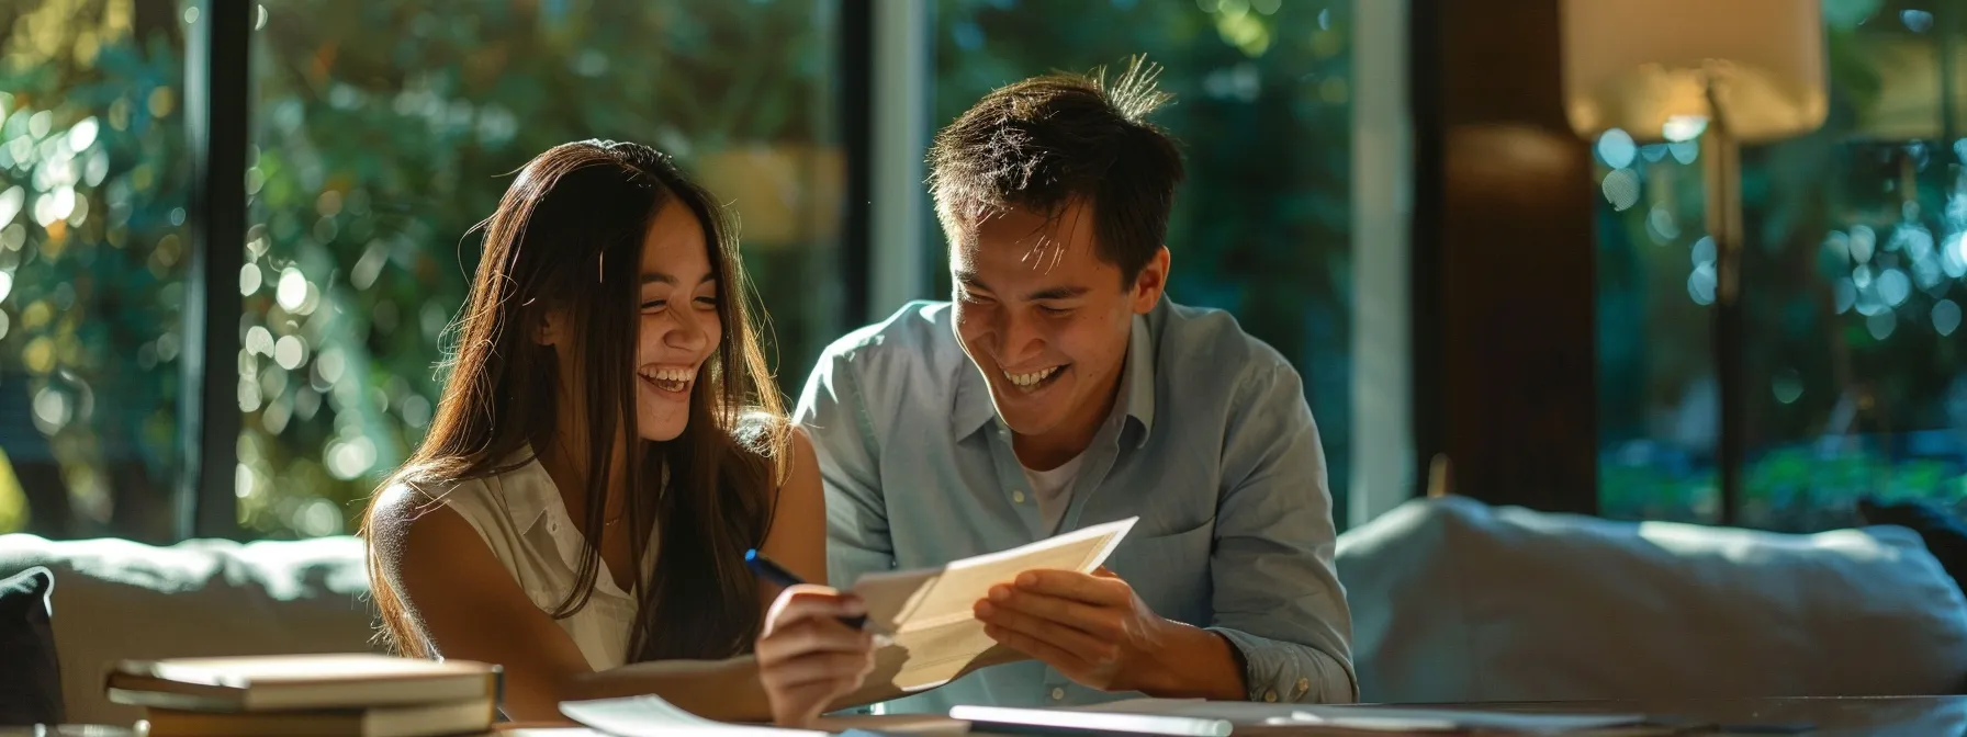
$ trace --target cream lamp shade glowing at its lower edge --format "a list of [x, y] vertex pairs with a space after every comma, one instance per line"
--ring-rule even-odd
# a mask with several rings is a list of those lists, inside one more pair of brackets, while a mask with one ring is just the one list
[[1572, 130], [1686, 140], [1713, 118], [1743, 143], [1800, 136], [1829, 110], [1821, 4], [1810, 0], [1564, 0]]

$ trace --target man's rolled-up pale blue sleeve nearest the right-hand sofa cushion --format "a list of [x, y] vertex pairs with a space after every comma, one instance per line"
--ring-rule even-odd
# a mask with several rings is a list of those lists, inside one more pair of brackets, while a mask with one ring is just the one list
[[1255, 702], [1357, 702], [1326, 456], [1298, 371], [1251, 371], [1223, 442], [1210, 629], [1241, 652]]

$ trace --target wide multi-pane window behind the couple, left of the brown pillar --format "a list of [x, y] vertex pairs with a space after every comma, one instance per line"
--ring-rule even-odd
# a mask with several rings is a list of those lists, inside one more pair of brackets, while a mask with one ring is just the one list
[[[869, 281], [895, 271], [867, 263], [865, 242], [897, 232], [875, 214], [917, 222], [915, 202], [875, 202], [867, 187], [919, 179], [869, 171], [923, 151], [844, 128], [903, 110], [877, 108], [893, 90], [871, 92], [889, 81], [887, 53], [923, 49], [891, 43], [897, 6], [264, 0], [248, 4], [246, 29], [222, 31], [210, 6], [0, 0], [0, 533], [167, 540], [230, 535], [230, 519], [242, 537], [350, 533], [431, 423], [447, 328], [476, 267], [472, 226], [507, 175], [555, 143], [653, 143], [740, 212], [787, 393], [869, 316]], [[1164, 67], [1176, 102], [1157, 120], [1190, 171], [1170, 224], [1170, 295], [1235, 312], [1296, 364], [1343, 523], [1353, 4], [903, 8], [909, 37], [934, 49], [928, 69], [909, 67], [934, 92], [903, 96], [905, 118], [926, 126], [1052, 69], [1135, 53]], [[228, 53], [250, 59], [244, 94], [210, 65]], [[212, 71], [218, 124], [185, 112], [187, 69]], [[240, 116], [242, 140], [209, 136]], [[232, 145], [244, 167], [216, 171]], [[201, 197], [234, 175], [244, 218], [193, 206], [218, 202]], [[919, 185], [909, 191], [926, 200]], [[214, 220], [201, 212], [218, 212], [226, 226], [210, 232], [226, 242], [203, 248]], [[926, 220], [921, 246], [940, 252]], [[909, 250], [911, 269], [921, 254]], [[934, 289], [881, 281], [881, 299], [946, 295], [932, 261]], [[236, 356], [189, 360], [207, 352], [187, 342], [226, 344], [234, 324]], [[199, 432], [234, 426], [236, 448], [199, 448]], [[224, 462], [187, 466], [201, 458]]]

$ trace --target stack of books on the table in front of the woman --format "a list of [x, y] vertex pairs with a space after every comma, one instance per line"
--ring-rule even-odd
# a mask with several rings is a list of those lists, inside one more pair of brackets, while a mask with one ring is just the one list
[[110, 702], [142, 706], [149, 735], [482, 735], [502, 672], [464, 660], [380, 654], [124, 660]]

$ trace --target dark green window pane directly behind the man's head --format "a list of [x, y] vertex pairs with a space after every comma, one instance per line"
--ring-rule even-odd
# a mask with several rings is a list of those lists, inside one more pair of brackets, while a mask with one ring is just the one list
[[[1351, 462], [1351, 2], [936, 4], [932, 124], [1048, 71], [1164, 67], [1188, 181], [1168, 224], [1168, 297], [1222, 307], [1304, 375], [1336, 517]], [[934, 234], [940, 244], [940, 232]], [[940, 261], [938, 261], [940, 263]], [[938, 277], [948, 295], [948, 273]]]

